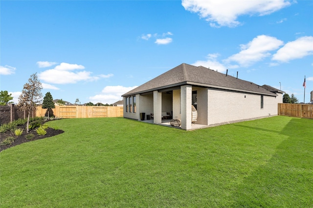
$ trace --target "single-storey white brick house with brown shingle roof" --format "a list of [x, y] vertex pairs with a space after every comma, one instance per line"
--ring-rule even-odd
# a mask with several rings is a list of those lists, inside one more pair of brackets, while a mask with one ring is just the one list
[[198, 113], [195, 124], [222, 125], [277, 115], [283, 93], [268, 85], [182, 63], [122, 97], [124, 118], [140, 120], [140, 113], [145, 113], [153, 115], [154, 124], [161, 124], [162, 113], [167, 112], [181, 120], [182, 129], [191, 130], [192, 105]]

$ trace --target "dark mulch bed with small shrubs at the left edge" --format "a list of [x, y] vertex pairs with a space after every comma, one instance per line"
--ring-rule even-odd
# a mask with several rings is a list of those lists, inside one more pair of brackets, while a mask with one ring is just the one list
[[8, 132], [4, 132], [4, 133], [0, 133], [0, 144], [2, 143], [2, 141], [9, 137], [9, 136], [12, 136], [15, 138], [14, 142], [11, 144], [11, 145], [4, 145], [4, 146], [0, 146], [0, 151], [4, 150], [4, 149], [7, 149], [7, 148], [10, 148], [12, 146], [17, 146], [17, 145], [20, 145], [22, 143], [25, 143], [25, 142], [31, 142], [31, 141], [34, 141], [34, 140], [39, 140], [39, 139], [44, 139], [44, 138], [47, 138], [47, 137], [52, 137], [52, 136], [55, 136], [55, 135], [58, 135], [58, 134], [62, 134], [64, 131], [63, 130], [54, 130], [53, 128], [47, 128], [45, 129], [46, 130], [46, 134], [45, 135], [38, 135], [37, 132], [36, 132], [36, 129], [32, 129], [29, 131], [28, 134], [34, 134], [35, 137], [34, 139], [26, 139], [25, 136], [27, 135], [27, 132], [26, 132], [26, 124], [25, 125], [20, 125], [18, 126], [17, 128], [22, 128], [24, 129], [23, 130], [23, 133], [21, 136], [16, 136], [14, 134], [14, 131], [8, 131]]

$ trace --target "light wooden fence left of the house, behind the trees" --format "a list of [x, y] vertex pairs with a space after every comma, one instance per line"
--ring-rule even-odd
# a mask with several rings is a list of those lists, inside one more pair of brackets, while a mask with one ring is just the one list
[[[56, 105], [50, 110], [49, 115], [60, 118], [97, 118], [97, 117], [123, 117], [121, 106], [81, 106], [81, 105]], [[36, 116], [47, 116], [47, 109], [37, 106]]]

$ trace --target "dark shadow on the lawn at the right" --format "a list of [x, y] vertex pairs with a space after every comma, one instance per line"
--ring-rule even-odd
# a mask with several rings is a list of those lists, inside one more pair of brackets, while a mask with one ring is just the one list
[[313, 120], [293, 118], [281, 130], [241, 127], [286, 135], [271, 159], [231, 195], [231, 207], [312, 207]]

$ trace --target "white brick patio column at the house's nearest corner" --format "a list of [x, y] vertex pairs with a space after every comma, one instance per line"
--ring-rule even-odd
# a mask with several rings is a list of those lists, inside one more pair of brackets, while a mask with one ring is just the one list
[[180, 104], [181, 104], [181, 128], [191, 129], [191, 98], [192, 86], [180, 86]]

